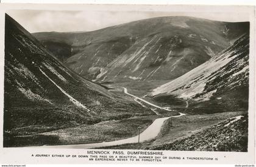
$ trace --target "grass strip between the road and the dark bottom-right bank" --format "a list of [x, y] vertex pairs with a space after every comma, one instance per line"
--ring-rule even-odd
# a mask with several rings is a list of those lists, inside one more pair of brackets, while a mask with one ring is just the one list
[[183, 117], [169, 118], [165, 121], [160, 134], [151, 141], [132, 143], [118, 146], [108, 146], [102, 149], [154, 149], [174, 141], [190, 137], [197, 132], [204, 131], [228, 118], [241, 115], [244, 112], [224, 112], [205, 115], [185, 115]]

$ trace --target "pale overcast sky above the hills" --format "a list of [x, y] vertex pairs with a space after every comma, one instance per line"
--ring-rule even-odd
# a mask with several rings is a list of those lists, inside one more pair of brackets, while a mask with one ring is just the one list
[[130, 21], [159, 16], [188, 15], [219, 21], [246, 21], [240, 13], [171, 13], [171, 12], [107, 12], [107, 11], [53, 11], [9, 10], [7, 12], [30, 33], [92, 31]]

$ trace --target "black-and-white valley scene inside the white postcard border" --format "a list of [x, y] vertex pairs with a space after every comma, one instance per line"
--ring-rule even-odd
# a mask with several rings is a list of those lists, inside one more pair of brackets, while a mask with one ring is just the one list
[[248, 16], [110, 8], [4, 17], [4, 148], [248, 151]]

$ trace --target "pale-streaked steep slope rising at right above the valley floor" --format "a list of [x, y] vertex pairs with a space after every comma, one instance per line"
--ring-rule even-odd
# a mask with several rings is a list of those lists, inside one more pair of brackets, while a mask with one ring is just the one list
[[[249, 35], [185, 75], [155, 88], [158, 101], [181, 98], [192, 103], [190, 111], [219, 112], [245, 109], [249, 95]], [[191, 107], [194, 109], [191, 109]]]

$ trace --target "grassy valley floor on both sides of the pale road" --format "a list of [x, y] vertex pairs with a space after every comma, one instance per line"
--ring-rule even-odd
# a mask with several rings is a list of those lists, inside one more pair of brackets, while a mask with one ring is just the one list
[[[115, 89], [113, 92], [123, 94], [121, 89]], [[124, 96], [126, 96], [126, 98], [132, 98], [127, 94]], [[145, 103], [142, 104], [145, 105], [145, 107], [152, 107]], [[162, 112], [159, 112], [160, 114], [158, 115], [145, 115], [140, 117], [124, 118], [122, 120], [101, 121], [96, 124], [85, 124], [74, 128], [44, 132], [37, 135], [19, 136], [15, 138], [15, 142], [23, 143], [23, 146], [26, 141], [28, 144], [27, 146], [48, 144], [53, 145], [49, 146], [52, 148], [59, 147], [54, 145], [68, 145], [63, 146], [63, 148], [73, 148], [71, 145], [74, 146], [77, 144], [75, 147], [79, 148], [80, 144], [116, 141], [131, 137], [134, 138], [138, 135], [138, 127], [140, 127], [140, 132], [143, 132], [155, 119], [177, 115], [176, 112], [168, 112], [159, 109], [158, 111]], [[183, 115], [182, 117], [168, 118], [163, 122], [162, 128], [157, 137], [152, 140], [140, 143], [107, 146], [104, 147], [104, 149], [161, 149], [163, 145], [190, 137], [197, 132], [202, 132], [207, 128], [211, 128], [212, 126], [221, 123], [222, 121], [244, 113], [245, 112], [237, 111], [204, 115]], [[45, 140], [41, 140], [42, 138]], [[39, 140], [40, 142], [38, 142]], [[31, 144], [29, 145], [29, 143]], [[82, 145], [80, 146], [80, 148], [83, 148]], [[60, 148], [62, 148], [62, 146], [60, 146]]]

